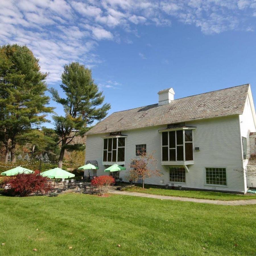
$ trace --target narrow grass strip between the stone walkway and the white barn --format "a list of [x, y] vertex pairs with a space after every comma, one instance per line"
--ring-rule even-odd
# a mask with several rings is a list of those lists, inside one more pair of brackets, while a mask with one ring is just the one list
[[164, 189], [152, 185], [144, 185], [144, 189], [140, 185], [134, 187], [127, 187], [124, 191], [140, 192], [152, 195], [167, 195], [175, 197], [190, 197], [199, 199], [212, 199], [212, 200], [244, 200], [244, 199], [256, 199], [256, 195], [242, 195], [221, 193], [212, 191], [194, 191], [194, 190], [173, 190]]

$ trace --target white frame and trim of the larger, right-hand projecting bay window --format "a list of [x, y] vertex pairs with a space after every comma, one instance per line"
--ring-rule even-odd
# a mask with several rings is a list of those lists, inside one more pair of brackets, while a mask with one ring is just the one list
[[[195, 127], [182, 127], [182, 128], [173, 128], [173, 129], [165, 129], [165, 130], [159, 130], [160, 133], [163, 132], [167, 132], [168, 134], [168, 161], [163, 161], [162, 157], [163, 157], [163, 141], [162, 141], [162, 134], [161, 134], [161, 163], [180, 163], [181, 165], [184, 165], [186, 162], [190, 162], [190, 164], [194, 164], [194, 132], [193, 130], [195, 129]], [[181, 145], [177, 145], [177, 136], [176, 136], [176, 131], [183, 131], [183, 161], [178, 160], [177, 161], [177, 146], [181, 146]], [[193, 152], [193, 160], [185, 160], [185, 143], [191, 143], [190, 141], [185, 141], [185, 130], [192, 130], [192, 152]], [[169, 148], [169, 131], [175, 131], [175, 148]], [[165, 145], [166, 146], [166, 145]], [[175, 161], [172, 160], [170, 161], [170, 149], [175, 149]]]

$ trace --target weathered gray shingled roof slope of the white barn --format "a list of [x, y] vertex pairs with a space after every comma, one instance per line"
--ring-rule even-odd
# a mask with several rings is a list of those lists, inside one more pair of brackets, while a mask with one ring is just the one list
[[130, 129], [180, 123], [197, 119], [242, 114], [249, 84], [114, 112], [86, 134], [110, 133]]

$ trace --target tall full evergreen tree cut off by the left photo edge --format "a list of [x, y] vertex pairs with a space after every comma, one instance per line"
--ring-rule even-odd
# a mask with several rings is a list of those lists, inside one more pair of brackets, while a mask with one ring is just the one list
[[47, 73], [40, 72], [38, 61], [26, 46], [0, 47], [0, 139], [12, 162], [18, 136], [45, 122], [53, 110], [46, 107]]

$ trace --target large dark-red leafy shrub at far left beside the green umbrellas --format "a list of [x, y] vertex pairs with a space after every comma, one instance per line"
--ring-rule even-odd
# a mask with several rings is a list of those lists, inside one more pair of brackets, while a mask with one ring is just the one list
[[5, 186], [7, 187], [6, 191], [21, 197], [26, 197], [37, 191], [47, 192], [50, 189], [47, 177], [36, 174], [18, 174], [8, 177], [5, 179]]

